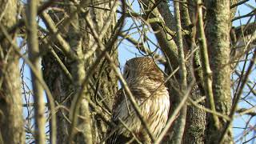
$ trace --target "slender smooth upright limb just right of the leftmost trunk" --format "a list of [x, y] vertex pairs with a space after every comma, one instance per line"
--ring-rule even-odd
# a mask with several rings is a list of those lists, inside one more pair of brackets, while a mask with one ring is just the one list
[[[39, 59], [39, 48], [38, 48], [38, 23], [36, 21], [37, 10], [38, 10], [38, 1], [29, 0], [27, 7], [27, 37], [28, 37], [28, 49], [29, 49], [29, 57], [30, 61], [33, 63], [34, 67], [36, 67], [36, 74], [42, 77], [40, 59]], [[34, 92], [34, 102], [35, 102], [35, 142], [36, 143], [45, 143], [45, 126], [46, 119], [44, 117], [44, 99], [43, 99], [43, 89], [35, 77], [34, 73], [31, 71], [32, 77], [32, 85]]]

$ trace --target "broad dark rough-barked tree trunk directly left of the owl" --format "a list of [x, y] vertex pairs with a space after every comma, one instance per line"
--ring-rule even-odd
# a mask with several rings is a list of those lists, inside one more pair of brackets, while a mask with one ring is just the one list
[[[98, 6], [104, 9], [110, 9], [113, 6], [113, 2], [106, 2]], [[75, 9], [75, 6], [73, 8], [70, 8], [69, 14], [75, 12]], [[110, 11], [96, 8], [86, 8], [86, 10], [88, 10], [88, 17], [92, 20], [94, 28], [97, 30], [98, 34], [101, 34], [102, 26], [106, 25], [106, 19], [109, 17]], [[61, 18], [62, 17], [60, 17], [59, 19]], [[55, 61], [55, 58], [52, 54], [46, 54], [42, 59], [44, 78], [46, 79], [48, 86], [50, 87], [53, 95], [55, 96], [55, 100], [58, 102], [59, 106], [65, 106], [68, 110], [70, 110], [71, 102], [74, 100], [74, 94], [78, 92], [78, 86], [81, 85], [81, 82], [89, 73], [88, 70], [90, 69], [90, 66], [94, 63], [95, 59], [97, 59], [98, 56], [101, 54], [101, 51], [96, 49], [94, 51], [94, 54], [90, 56], [90, 58], [84, 59], [85, 55], [90, 53], [90, 50], [92, 49], [94, 44], [94, 38], [90, 34], [90, 29], [88, 27], [88, 24], [86, 23], [85, 18], [85, 13], [78, 12], [77, 14], [75, 14], [75, 17], [71, 21], [75, 25], [70, 25], [68, 28], [66, 28], [67, 32], [65, 37], [66, 41], [69, 42], [71, 48], [72, 46], [78, 46], [79, 42], [81, 42], [81, 47], [79, 48], [79, 50], [74, 50], [72, 48], [74, 51], [76, 51], [77, 54], [80, 53], [79, 57], [81, 58], [81, 61], [73, 61], [70, 58], [67, 58], [58, 50], [55, 50], [58, 54], [58, 57], [61, 58], [62, 62], [66, 66], [67, 70], [70, 71], [72, 78], [74, 78], [73, 82], [67, 80], [68, 78], [66, 74], [63, 72], [58, 62]], [[106, 43], [109, 41], [111, 34], [113, 34], [114, 23], [115, 18], [112, 21], [112, 24], [107, 30], [105, 36], [102, 38], [102, 42]], [[77, 28], [80, 29], [76, 31], [75, 29]], [[65, 35], [65, 32], [63, 32], [62, 34]], [[116, 48], [114, 48], [114, 46], [113, 49], [110, 50], [110, 54], [112, 55], [114, 62], [118, 64], [118, 51]], [[89, 117], [90, 122], [83, 121], [82, 119], [80, 119], [78, 122], [79, 129], [81, 129], [81, 126], [85, 124], [87, 126], [90, 125], [91, 130], [84, 129], [84, 132], [77, 134], [75, 136], [75, 143], [85, 143], [83, 141], [85, 140], [84, 136], [88, 135], [88, 133], [91, 134], [92, 143], [99, 143], [102, 138], [105, 137], [106, 122], [104, 122], [104, 119], [102, 120], [102, 117], [100, 115], [106, 114], [105, 121], [109, 120], [110, 115], [107, 115], [106, 111], [109, 111], [111, 109], [114, 94], [118, 90], [118, 78], [115, 76], [114, 70], [110, 68], [109, 63], [106, 62], [104, 58], [101, 59], [98, 66], [96, 66], [94, 69], [94, 74], [90, 78], [90, 82], [86, 84], [86, 88], [84, 89], [85, 98], [83, 98], [82, 100], [82, 106], [79, 113], [83, 117]], [[75, 84], [76, 82], [78, 83]], [[89, 103], [90, 113], [85, 111], [87, 109], [86, 105], [88, 106]], [[68, 142], [70, 122], [68, 122], [68, 120], [66, 119], [69, 115], [69, 112], [66, 110], [66, 108], [60, 107], [57, 112], [57, 143]]]

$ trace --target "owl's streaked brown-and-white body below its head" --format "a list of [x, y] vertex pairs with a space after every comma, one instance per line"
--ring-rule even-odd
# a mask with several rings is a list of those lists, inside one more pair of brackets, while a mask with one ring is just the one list
[[[131, 82], [132, 83], [132, 82]], [[143, 86], [129, 85], [130, 90], [140, 107], [142, 116], [146, 119], [150, 132], [154, 134], [155, 137], [161, 133], [162, 128], [166, 125], [168, 118], [168, 113], [170, 109], [170, 99], [168, 91], [164, 85], [154, 82], [145, 85], [144, 82], [141, 84]], [[131, 106], [129, 98], [127, 98], [124, 90], [118, 90], [118, 97], [115, 99], [113, 107], [113, 121], [117, 125], [122, 125], [119, 119], [126, 124], [133, 133], [138, 136], [144, 129], [140, 119]], [[120, 126], [117, 130], [118, 134], [122, 134], [125, 138], [132, 137], [130, 132], [125, 128], [125, 126]], [[139, 139], [139, 138], [138, 138]]]

